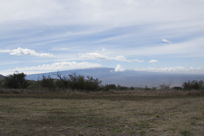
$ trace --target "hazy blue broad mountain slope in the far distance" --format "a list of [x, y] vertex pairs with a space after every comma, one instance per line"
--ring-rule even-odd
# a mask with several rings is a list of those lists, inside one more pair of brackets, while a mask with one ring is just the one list
[[60, 73], [61, 75], [69, 75], [76, 73], [78, 75], [93, 76], [102, 80], [103, 84], [117, 84], [122, 86], [134, 87], [157, 87], [161, 84], [167, 84], [170, 86], [181, 86], [182, 83], [185, 81], [204, 80], [204, 75], [172, 74], [143, 71], [115, 72], [113, 68], [92, 68], [51, 72], [44, 74], [33, 74], [28, 75], [27, 79], [40, 80], [42, 79], [43, 75], [50, 75], [52, 78], [57, 78], [57, 73]]

